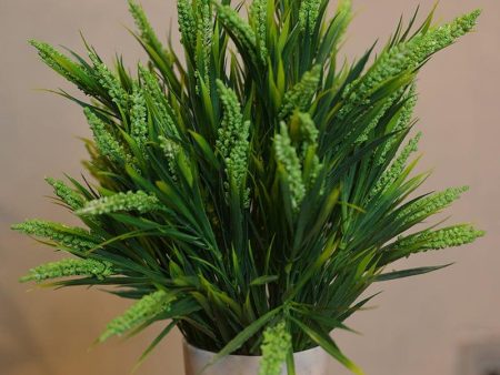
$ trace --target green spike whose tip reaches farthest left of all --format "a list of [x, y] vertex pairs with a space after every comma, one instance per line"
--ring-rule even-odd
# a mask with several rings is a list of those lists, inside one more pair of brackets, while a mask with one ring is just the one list
[[87, 251], [98, 245], [97, 242], [91, 240], [90, 233], [81, 227], [66, 226], [43, 220], [28, 220], [12, 225], [12, 230], [36, 237], [51, 240], [77, 251]]

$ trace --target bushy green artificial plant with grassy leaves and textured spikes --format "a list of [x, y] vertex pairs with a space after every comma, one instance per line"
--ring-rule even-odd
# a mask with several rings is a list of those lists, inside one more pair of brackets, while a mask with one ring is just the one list
[[[416, 75], [471, 31], [479, 11], [434, 26], [401, 22], [352, 64], [339, 47], [352, 18], [341, 0], [178, 0], [183, 60], [129, 1], [149, 61], [130, 72], [31, 41], [90, 100], [81, 105], [93, 178], [47, 179], [82, 227], [29, 220], [13, 229], [71, 256], [21, 281], [106, 285], [134, 300], [99, 342], [177, 326], [191, 345], [262, 355], [261, 374], [294, 374], [293, 353], [321, 346], [361, 374], [330, 333], [374, 282], [440, 268], [384, 271], [394, 261], [467, 244], [470, 224], [426, 224], [467, 188], [414, 194]], [[409, 141], [406, 141], [410, 138]], [[419, 225], [424, 223], [423, 225]], [[49, 280], [59, 278], [47, 283]]]

